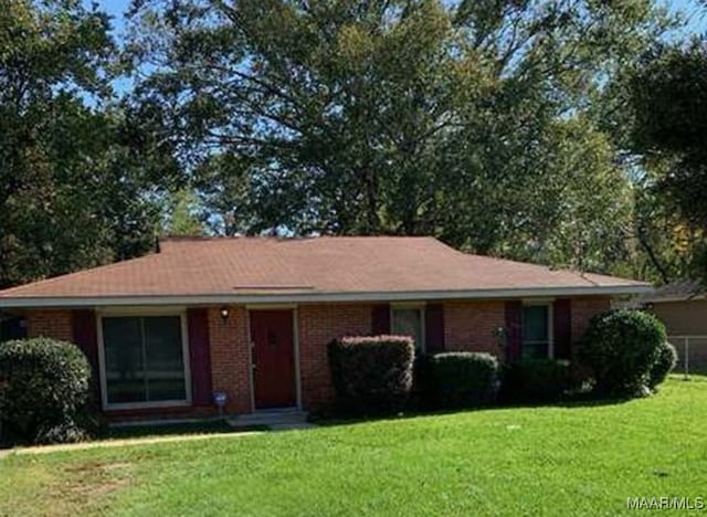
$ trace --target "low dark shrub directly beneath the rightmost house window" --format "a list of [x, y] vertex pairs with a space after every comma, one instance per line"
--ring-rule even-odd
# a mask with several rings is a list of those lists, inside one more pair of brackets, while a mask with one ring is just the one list
[[502, 398], [507, 402], [546, 402], [560, 399], [570, 388], [569, 361], [532, 359], [504, 369]]

